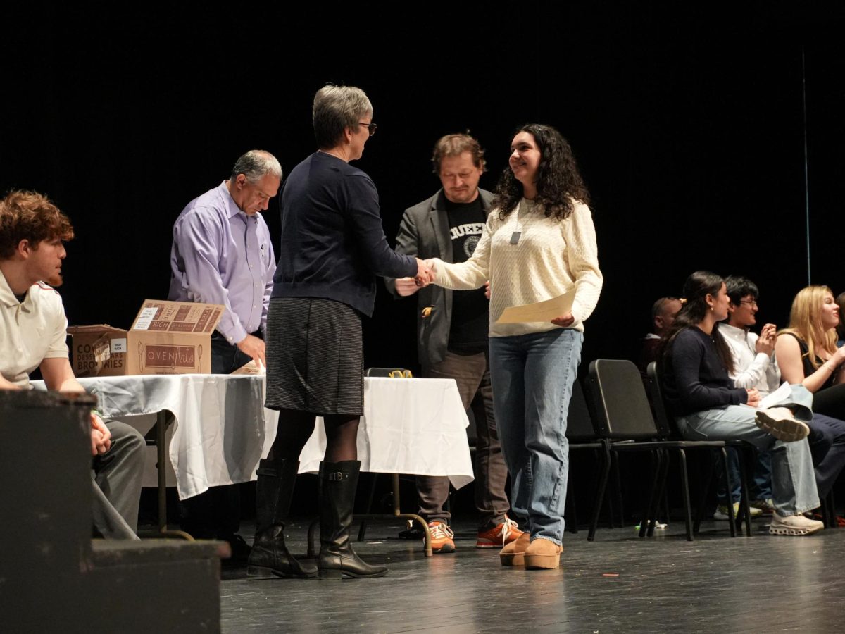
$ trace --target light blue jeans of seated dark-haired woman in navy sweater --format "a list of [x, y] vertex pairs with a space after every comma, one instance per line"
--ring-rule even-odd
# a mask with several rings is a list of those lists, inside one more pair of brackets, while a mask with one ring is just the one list
[[[793, 409], [795, 418], [808, 421], [812, 395], [803, 386], [793, 385], [793, 394], [779, 405]], [[720, 409], [676, 417], [678, 429], [690, 440], [747, 440], [758, 451], [771, 451], [771, 500], [778, 515], [799, 515], [819, 506], [813, 459], [807, 440], [782, 442], [758, 428], [755, 409], [728, 405]]]

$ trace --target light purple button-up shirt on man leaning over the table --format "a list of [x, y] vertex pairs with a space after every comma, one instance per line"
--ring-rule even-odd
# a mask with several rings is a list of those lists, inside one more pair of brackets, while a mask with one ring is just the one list
[[179, 214], [170, 271], [168, 299], [226, 306], [217, 325], [226, 341], [264, 332], [275, 273], [270, 231], [260, 214], [237, 208], [226, 181]]

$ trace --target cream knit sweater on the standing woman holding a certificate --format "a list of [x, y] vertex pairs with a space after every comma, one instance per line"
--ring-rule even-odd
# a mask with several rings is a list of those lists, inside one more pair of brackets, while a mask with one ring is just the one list
[[[518, 236], [516, 234], [519, 234]], [[448, 264], [433, 259], [434, 281], [444, 288], [466, 290], [490, 281], [490, 336], [525, 335], [559, 326], [534, 321], [496, 324], [505, 308], [556, 298], [575, 285], [570, 327], [584, 331], [602, 291], [596, 229], [590, 208], [575, 202], [564, 221], [548, 218], [541, 205], [522, 199], [504, 221], [493, 209], [470, 260]]]

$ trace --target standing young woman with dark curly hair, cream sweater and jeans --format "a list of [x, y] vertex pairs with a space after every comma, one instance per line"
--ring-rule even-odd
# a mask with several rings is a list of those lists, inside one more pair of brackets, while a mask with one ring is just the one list
[[[527, 520], [504, 546], [503, 566], [557, 568], [569, 470], [566, 418], [581, 360], [584, 320], [602, 290], [589, 193], [560, 133], [522, 126], [510, 167], [472, 258], [432, 260], [435, 284], [470, 289], [490, 281], [493, 409], [511, 477], [511, 508]], [[549, 321], [496, 323], [508, 306], [559, 297], [575, 287], [570, 312]]]

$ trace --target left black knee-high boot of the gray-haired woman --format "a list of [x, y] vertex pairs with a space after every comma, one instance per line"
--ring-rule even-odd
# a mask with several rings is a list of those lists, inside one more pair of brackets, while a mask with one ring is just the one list
[[297, 561], [285, 545], [284, 518], [291, 509], [299, 462], [262, 460], [255, 490], [255, 540], [249, 553], [247, 577], [313, 577], [316, 566]]

